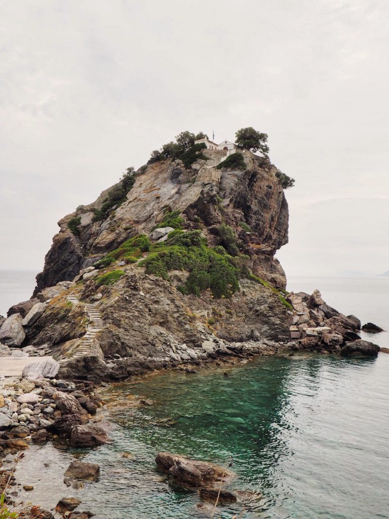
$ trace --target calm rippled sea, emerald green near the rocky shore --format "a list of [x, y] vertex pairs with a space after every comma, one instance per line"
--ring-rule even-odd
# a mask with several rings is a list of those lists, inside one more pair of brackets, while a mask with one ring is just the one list
[[[23, 293], [22, 277], [4, 279], [2, 308], [12, 285], [12, 303]], [[317, 288], [346, 315], [389, 330], [389, 278], [300, 277], [287, 288]], [[363, 336], [389, 347], [386, 331]], [[112, 443], [73, 450], [32, 445], [17, 479], [34, 485], [29, 501], [51, 508], [73, 495], [96, 519], [389, 519], [388, 389], [387, 353], [374, 359], [301, 353], [195, 374], [151, 374], [104, 389], [104, 400], [115, 404], [106, 406]], [[133, 395], [151, 405], [130, 407]], [[215, 508], [176, 488], [156, 470], [160, 451], [232, 470], [236, 476], [225, 487], [238, 502]], [[62, 475], [75, 458], [99, 463], [101, 476], [70, 491]]]

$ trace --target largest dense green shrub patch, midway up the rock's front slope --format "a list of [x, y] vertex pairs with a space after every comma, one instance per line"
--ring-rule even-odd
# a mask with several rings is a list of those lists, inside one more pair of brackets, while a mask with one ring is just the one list
[[240, 271], [232, 264], [231, 256], [224, 249], [223, 254], [218, 254], [208, 247], [200, 230], [151, 244], [150, 250], [150, 255], [139, 263], [148, 274], [169, 281], [170, 270], [189, 272], [185, 286], [177, 287], [183, 294], [199, 296], [203, 290], [211, 289], [215, 297], [230, 297], [239, 290]]

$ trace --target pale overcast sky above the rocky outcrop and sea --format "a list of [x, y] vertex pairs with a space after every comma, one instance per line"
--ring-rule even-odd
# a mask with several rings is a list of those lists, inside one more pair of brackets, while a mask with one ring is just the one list
[[182, 130], [269, 135], [287, 275], [389, 269], [384, 0], [0, 2], [0, 269]]

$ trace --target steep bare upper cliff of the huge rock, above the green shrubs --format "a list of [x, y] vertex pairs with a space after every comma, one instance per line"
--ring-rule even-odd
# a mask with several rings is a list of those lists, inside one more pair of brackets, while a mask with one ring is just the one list
[[[179, 160], [140, 168], [126, 200], [119, 207], [113, 205], [100, 221], [95, 221], [96, 213], [120, 184], [62, 218], [44, 270], [37, 276], [35, 294], [59, 281], [72, 280], [80, 269], [129, 237], [148, 234], [163, 221], [166, 208], [182, 213], [185, 228], [201, 227], [211, 245], [218, 225], [231, 226], [245, 245], [254, 274], [285, 288], [284, 271], [273, 257], [288, 240], [288, 206], [276, 168], [266, 159], [244, 153], [245, 171], [217, 169], [224, 152], [204, 153], [209, 160], [198, 160], [189, 170]], [[79, 222], [75, 234], [68, 228], [74, 220]]]

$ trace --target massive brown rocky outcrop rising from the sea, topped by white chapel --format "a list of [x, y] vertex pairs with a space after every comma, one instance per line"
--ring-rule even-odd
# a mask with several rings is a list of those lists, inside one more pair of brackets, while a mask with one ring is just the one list
[[[348, 352], [360, 338], [355, 316], [318, 290], [285, 291], [274, 258], [288, 239], [277, 169], [248, 152], [244, 170], [220, 169], [224, 152], [204, 154], [189, 168], [172, 159], [143, 166], [62, 218], [33, 304], [9, 310], [0, 340], [49, 352], [63, 378], [94, 381], [193, 370], [188, 364], [286, 343]], [[72, 441], [99, 441], [82, 423], [59, 426], [67, 425]]]

